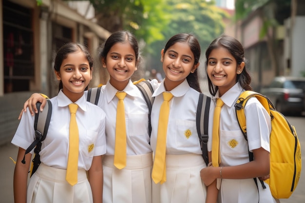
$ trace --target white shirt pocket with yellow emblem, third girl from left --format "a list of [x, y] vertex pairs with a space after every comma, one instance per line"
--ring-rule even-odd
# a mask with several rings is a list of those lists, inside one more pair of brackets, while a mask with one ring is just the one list
[[177, 119], [175, 135], [177, 147], [185, 148], [199, 146], [195, 121]]

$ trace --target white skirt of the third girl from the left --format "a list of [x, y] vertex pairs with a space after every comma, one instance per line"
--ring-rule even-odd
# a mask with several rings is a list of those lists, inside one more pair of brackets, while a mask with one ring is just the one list
[[166, 155], [166, 182], [152, 181], [153, 203], [205, 203], [207, 188], [200, 170], [206, 164], [200, 154]]

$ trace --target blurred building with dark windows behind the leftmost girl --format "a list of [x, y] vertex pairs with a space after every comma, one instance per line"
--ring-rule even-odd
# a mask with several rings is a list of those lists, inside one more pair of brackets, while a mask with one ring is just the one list
[[[84, 1], [83, 1], [84, 3]], [[90, 3], [80, 7], [61, 0], [0, 0], [0, 144], [12, 139], [23, 103], [33, 92], [55, 96], [53, 59], [69, 41], [85, 44], [95, 56], [111, 33], [92, 18]], [[95, 70], [91, 85], [103, 79]]]

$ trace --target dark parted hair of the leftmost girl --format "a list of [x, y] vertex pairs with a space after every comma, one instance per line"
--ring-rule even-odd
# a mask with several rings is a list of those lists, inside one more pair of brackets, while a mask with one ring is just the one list
[[[93, 58], [90, 55], [88, 49], [84, 45], [82, 45], [78, 42], [68, 42], [60, 47], [60, 49], [57, 51], [57, 55], [54, 60], [54, 70], [56, 72], [59, 72], [62, 61], [64, 59], [66, 59], [69, 54], [77, 52], [77, 51], [82, 51], [82, 53], [84, 53], [84, 55], [86, 56], [86, 58], [89, 62], [90, 70], [92, 71]], [[60, 80], [58, 91], [60, 91], [62, 88], [63, 88], [62, 81]], [[88, 89], [88, 86], [86, 87], [85, 90], [87, 90], [87, 89]]]

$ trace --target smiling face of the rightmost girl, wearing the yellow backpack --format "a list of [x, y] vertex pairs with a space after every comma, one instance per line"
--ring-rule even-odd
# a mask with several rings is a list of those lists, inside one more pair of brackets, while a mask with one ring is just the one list
[[236, 84], [237, 74], [242, 73], [244, 67], [245, 62], [238, 65], [233, 55], [224, 47], [218, 47], [210, 52], [207, 74], [211, 82], [218, 86], [219, 96]]

